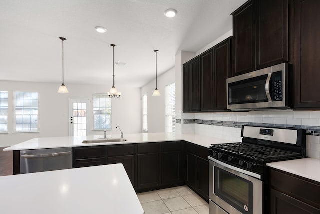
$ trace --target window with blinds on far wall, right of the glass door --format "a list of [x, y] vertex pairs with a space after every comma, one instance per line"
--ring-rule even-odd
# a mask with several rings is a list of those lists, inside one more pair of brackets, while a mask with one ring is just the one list
[[111, 98], [93, 94], [93, 130], [111, 129]]

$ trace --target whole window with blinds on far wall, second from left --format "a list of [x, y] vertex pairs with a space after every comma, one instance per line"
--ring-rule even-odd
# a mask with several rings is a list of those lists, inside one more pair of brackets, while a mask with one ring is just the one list
[[15, 131], [38, 131], [38, 93], [15, 92]]

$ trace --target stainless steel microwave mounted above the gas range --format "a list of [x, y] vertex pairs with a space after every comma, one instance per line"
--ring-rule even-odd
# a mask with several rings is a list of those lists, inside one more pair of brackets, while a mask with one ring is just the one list
[[290, 108], [288, 84], [287, 63], [228, 78], [227, 109], [239, 111]]

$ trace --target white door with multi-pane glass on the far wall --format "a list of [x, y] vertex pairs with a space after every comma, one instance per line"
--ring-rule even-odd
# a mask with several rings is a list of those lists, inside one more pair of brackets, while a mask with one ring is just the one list
[[89, 135], [89, 100], [70, 99], [69, 136]]

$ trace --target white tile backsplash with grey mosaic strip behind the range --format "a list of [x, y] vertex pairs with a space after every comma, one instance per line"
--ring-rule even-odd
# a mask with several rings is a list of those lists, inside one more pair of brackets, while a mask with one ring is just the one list
[[181, 113], [177, 118], [183, 133], [218, 135], [231, 141], [241, 141], [242, 124], [306, 129], [307, 156], [320, 159], [320, 111]]

